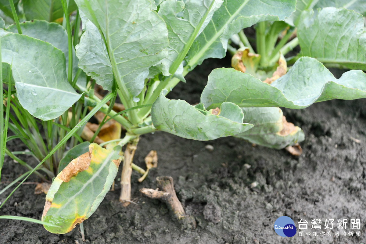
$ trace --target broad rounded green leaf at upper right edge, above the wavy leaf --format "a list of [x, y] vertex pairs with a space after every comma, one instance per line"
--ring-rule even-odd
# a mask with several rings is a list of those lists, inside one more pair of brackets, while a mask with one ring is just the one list
[[361, 14], [344, 8], [304, 11], [298, 25], [303, 56], [324, 64], [366, 70], [366, 33]]

